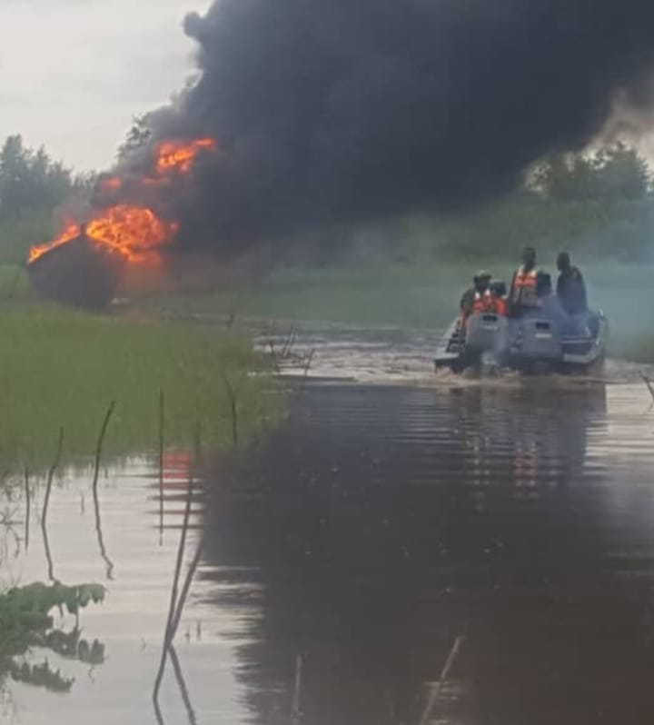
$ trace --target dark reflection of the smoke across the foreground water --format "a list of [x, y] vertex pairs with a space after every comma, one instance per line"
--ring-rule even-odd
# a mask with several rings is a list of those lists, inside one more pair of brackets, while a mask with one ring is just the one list
[[460, 637], [432, 722], [649, 721], [654, 577], [614, 559], [605, 411], [601, 387], [313, 386], [222, 462], [207, 576], [253, 721], [299, 698], [307, 725], [415, 725]]

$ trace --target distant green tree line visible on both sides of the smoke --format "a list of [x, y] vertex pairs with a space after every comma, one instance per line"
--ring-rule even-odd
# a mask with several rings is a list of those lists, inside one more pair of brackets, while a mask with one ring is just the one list
[[[144, 144], [146, 133], [144, 121], [135, 119], [118, 158]], [[0, 261], [22, 259], [50, 236], [56, 209], [87, 196], [94, 178], [55, 161], [43, 147], [30, 148], [20, 135], [7, 137], [0, 149]], [[553, 154], [512, 194], [477, 209], [381, 223], [363, 256], [507, 256], [524, 243], [638, 255], [651, 252], [653, 228], [649, 163], [619, 142], [591, 153]]]

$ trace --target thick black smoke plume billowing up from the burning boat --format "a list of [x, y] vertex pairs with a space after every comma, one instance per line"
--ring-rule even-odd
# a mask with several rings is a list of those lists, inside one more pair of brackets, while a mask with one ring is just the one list
[[652, 0], [220, 0], [184, 28], [200, 74], [150, 124], [219, 140], [171, 204], [223, 252], [501, 194], [646, 109], [654, 68]]

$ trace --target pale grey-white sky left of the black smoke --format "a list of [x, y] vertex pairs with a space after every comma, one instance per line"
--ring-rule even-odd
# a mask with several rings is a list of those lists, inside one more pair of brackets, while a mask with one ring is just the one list
[[0, 140], [80, 171], [112, 164], [134, 114], [193, 74], [183, 16], [209, 0], [0, 0]]

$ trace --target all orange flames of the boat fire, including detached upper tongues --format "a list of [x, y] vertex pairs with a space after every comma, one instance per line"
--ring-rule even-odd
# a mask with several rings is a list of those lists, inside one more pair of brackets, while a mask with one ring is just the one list
[[[215, 151], [212, 138], [193, 141], [164, 141], [156, 147], [154, 169], [138, 181], [143, 188], [169, 183], [175, 174], [188, 174], [199, 154]], [[98, 183], [101, 192], [126, 194], [127, 184], [118, 176], [107, 176]], [[118, 201], [118, 199], [115, 199]], [[106, 199], [105, 199], [106, 202]], [[160, 248], [170, 242], [178, 224], [165, 222], [147, 206], [114, 204], [96, 214], [84, 227], [81, 223], [67, 222], [64, 231], [52, 242], [32, 247], [28, 263], [82, 236], [102, 246], [105, 251], [120, 253], [131, 263], [156, 263]]]

